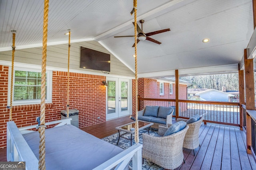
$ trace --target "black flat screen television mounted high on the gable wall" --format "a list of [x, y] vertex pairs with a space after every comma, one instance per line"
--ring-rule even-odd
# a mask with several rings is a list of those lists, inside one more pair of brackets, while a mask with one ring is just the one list
[[110, 72], [110, 54], [81, 47], [80, 68]]

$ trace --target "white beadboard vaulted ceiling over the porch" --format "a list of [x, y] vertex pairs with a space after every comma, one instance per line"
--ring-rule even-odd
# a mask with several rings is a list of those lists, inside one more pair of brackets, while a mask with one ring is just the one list
[[[135, 70], [133, 0], [50, 0], [48, 45], [98, 41]], [[138, 0], [144, 33], [170, 28], [138, 43], [138, 74], [164, 77], [238, 70], [254, 31], [252, 0]], [[0, 51], [42, 46], [43, 0], [0, 1]], [[203, 43], [204, 38], [210, 39]], [[196, 71], [195, 71], [196, 70]]]

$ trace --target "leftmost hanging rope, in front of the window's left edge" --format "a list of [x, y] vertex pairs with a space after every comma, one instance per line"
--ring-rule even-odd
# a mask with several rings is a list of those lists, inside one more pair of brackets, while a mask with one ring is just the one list
[[14, 52], [15, 52], [15, 35], [16, 31], [12, 30], [12, 74], [11, 74], [11, 94], [10, 94], [10, 106], [7, 106], [7, 109], [10, 109], [9, 121], [12, 121], [12, 93], [13, 93], [13, 68], [14, 68]]

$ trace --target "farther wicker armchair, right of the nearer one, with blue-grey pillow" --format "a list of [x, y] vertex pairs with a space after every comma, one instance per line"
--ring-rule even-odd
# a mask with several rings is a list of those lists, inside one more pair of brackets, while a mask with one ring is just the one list
[[[189, 123], [188, 131], [184, 138], [183, 147], [186, 149], [193, 149], [194, 155], [195, 150], [197, 147], [200, 147], [199, 143], [199, 129], [201, 126], [201, 123], [203, 121], [203, 117], [201, 117], [198, 121], [195, 121], [193, 123]], [[178, 118], [177, 121], [188, 121], [188, 119], [182, 119]]]

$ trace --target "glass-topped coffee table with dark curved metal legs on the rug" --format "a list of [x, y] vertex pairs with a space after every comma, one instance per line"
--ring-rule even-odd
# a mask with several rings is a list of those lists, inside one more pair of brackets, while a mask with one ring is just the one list
[[[149, 134], [150, 126], [152, 126], [153, 124], [154, 123], [138, 120], [139, 130], [146, 129], [148, 127], [148, 134]], [[128, 123], [128, 124], [125, 124], [125, 125], [122, 125], [122, 126], [118, 126], [118, 127], [116, 127], [116, 129], [118, 130], [118, 133], [119, 133], [119, 137], [118, 137], [118, 141], [117, 141], [116, 145], [118, 145], [119, 139], [120, 139], [120, 137], [122, 137], [124, 139], [130, 140], [131, 141], [131, 146], [132, 146], [132, 139], [134, 139], [134, 138], [132, 138], [132, 134], [135, 133], [135, 122]], [[123, 131], [125, 133], [120, 134], [121, 131]], [[126, 138], [126, 137], [123, 136], [127, 133], [131, 134], [130, 138]]]

